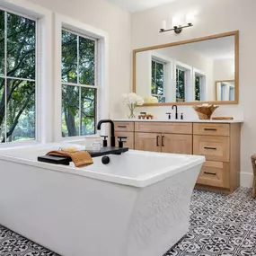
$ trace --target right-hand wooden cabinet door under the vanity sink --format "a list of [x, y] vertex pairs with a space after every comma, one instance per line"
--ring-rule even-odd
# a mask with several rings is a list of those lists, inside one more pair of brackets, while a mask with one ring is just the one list
[[192, 136], [181, 134], [162, 134], [162, 152], [192, 154]]

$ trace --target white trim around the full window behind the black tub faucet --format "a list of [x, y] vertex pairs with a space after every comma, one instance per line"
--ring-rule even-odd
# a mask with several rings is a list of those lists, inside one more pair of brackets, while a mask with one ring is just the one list
[[62, 116], [62, 91], [61, 91], [61, 33], [62, 28], [70, 31], [78, 32], [82, 35], [91, 36], [98, 39], [98, 92], [97, 92], [97, 117], [99, 119], [109, 119], [109, 36], [105, 31], [96, 29], [83, 22], [75, 21], [62, 14], [55, 13], [55, 83], [54, 83], [54, 141], [72, 141], [82, 138], [78, 137], [62, 137], [61, 135], [61, 116]]

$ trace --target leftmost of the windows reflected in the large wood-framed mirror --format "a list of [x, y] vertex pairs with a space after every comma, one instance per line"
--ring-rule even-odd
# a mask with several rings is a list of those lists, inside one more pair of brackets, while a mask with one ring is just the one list
[[164, 63], [152, 60], [151, 94], [158, 99], [158, 102], [165, 102], [164, 96]]

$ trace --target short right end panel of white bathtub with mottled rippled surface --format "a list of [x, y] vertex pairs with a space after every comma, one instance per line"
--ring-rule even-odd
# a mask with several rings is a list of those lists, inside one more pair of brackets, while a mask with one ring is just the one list
[[201, 166], [140, 190], [129, 225], [128, 256], [162, 256], [187, 234], [190, 199]]

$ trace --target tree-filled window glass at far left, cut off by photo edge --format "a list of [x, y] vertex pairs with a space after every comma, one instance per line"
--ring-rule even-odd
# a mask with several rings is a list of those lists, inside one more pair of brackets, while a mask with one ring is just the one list
[[36, 137], [36, 21], [0, 10], [0, 142]]

